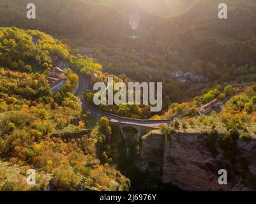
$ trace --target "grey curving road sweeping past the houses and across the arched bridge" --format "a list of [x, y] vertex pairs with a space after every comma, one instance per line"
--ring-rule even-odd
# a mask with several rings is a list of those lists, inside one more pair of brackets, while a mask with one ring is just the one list
[[121, 124], [127, 124], [131, 126], [142, 126], [146, 128], [154, 128], [158, 129], [160, 128], [160, 124], [165, 124], [166, 126], [169, 126], [172, 122], [171, 120], [140, 120], [140, 119], [131, 119], [126, 117], [119, 117], [117, 115], [113, 115], [110, 113], [102, 112], [101, 110], [98, 110], [94, 106], [87, 103], [85, 100], [82, 99], [82, 93], [87, 90], [88, 82], [86, 77], [82, 75], [81, 73], [78, 73], [76, 71], [73, 71], [76, 73], [79, 77], [79, 87], [77, 91], [75, 92], [75, 96], [77, 96], [79, 103], [82, 105], [82, 110], [85, 112], [90, 112], [93, 117], [96, 117], [97, 119], [100, 117], [107, 117], [110, 122], [113, 123], [121, 123]]

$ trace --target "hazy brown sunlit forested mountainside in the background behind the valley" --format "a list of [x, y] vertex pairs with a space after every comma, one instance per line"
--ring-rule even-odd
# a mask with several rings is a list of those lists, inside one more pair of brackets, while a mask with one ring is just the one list
[[[195, 2], [192, 9], [168, 18], [141, 10], [131, 1], [35, 0], [36, 19], [27, 20], [22, 13], [27, 3], [0, 1], [0, 24], [39, 29], [61, 38], [92, 55], [103, 72], [139, 82], [164, 82], [164, 96], [170, 101], [181, 102], [202, 91], [186, 91], [188, 84], [171, 77], [176, 71], [220, 83], [256, 78], [256, 5], [251, 0], [226, 1], [225, 20], [218, 19], [219, 1], [210, 0]], [[141, 18], [136, 30], [129, 25], [134, 12]], [[128, 38], [133, 34], [139, 38]]]

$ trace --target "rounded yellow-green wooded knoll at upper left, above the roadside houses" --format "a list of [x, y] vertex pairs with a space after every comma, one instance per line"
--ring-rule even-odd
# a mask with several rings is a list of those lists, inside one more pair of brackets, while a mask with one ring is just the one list
[[1, 27], [0, 42], [0, 66], [17, 71], [42, 73], [53, 66], [51, 56], [63, 61], [69, 57], [66, 45], [40, 31]]

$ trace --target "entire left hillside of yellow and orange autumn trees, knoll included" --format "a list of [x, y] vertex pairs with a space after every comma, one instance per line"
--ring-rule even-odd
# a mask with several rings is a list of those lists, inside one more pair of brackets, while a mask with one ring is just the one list
[[[0, 53], [6, 59], [0, 68], [0, 190], [127, 191], [130, 181], [96, 156], [98, 136], [104, 129], [91, 135], [86, 128], [87, 115], [72, 94], [77, 78], [71, 69], [65, 72], [67, 82], [56, 96], [46, 75], [37, 72], [53, 66], [54, 56], [70, 60], [85, 74], [96, 71], [98, 64], [71, 55], [66, 45], [38, 31], [1, 27], [0, 33]], [[7, 161], [8, 171], [19, 169], [18, 175], [2, 175]], [[29, 168], [38, 173], [34, 186], [27, 186], [22, 177]]]

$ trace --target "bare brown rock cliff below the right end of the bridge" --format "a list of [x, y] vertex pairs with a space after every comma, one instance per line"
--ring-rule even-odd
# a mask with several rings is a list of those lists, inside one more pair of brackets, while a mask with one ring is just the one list
[[[213, 155], [207, 147], [208, 137], [200, 134], [175, 133], [168, 141], [161, 139], [160, 133], [149, 133], [142, 140], [140, 159], [143, 162], [140, 162], [140, 167], [153, 161], [162, 167], [164, 183], [174, 184], [185, 191], [252, 190], [246, 187], [248, 185], [245, 185], [245, 178], [256, 176], [256, 142], [237, 142], [239, 153], [229, 160], [217, 143], [213, 143], [216, 150], [216, 154]], [[155, 154], [160, 152], [157, 149], [162, 148], [161, 143], [162, 158], [160, 154]], [[220, 169], [227, 170], [227, 185], [218, 184]]]

